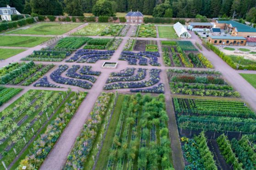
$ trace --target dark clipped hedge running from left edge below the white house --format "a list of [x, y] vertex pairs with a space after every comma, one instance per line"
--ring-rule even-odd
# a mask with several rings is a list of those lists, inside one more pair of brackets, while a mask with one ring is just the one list
[[34, 19], [32, 17], [21, 19], [18, 21], [3, 22], [3, 23], [0, 23], [0, 32], [11, 29], [11, 28], [17, 28], [18, 26], [22, 27], [28, 24], [32, 24], [33, 22], [34, 22]]

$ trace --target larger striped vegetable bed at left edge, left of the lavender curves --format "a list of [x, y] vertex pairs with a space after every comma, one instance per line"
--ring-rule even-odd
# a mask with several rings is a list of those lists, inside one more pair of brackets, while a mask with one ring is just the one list
[[0, 69], [0, 84], [30, 85], [47, 73], [53, 64], [43, 65], [28, 63], [12, 63]]

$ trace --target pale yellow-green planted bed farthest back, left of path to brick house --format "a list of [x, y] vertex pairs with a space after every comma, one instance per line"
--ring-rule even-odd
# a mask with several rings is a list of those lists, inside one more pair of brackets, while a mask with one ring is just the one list
[[82, 29], [74, 32], [74, 36], [112, 36], [124, 37], [128, 32], [129, 25], [119, 25], [119, 24], [95, 24], [89, 23]]

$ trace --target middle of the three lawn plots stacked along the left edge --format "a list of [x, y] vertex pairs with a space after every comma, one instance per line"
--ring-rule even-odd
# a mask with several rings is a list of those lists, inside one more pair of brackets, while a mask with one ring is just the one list
[[0, 36], [0, 46], [5, 47], [35, 47], [50, 40], [52, 37]]

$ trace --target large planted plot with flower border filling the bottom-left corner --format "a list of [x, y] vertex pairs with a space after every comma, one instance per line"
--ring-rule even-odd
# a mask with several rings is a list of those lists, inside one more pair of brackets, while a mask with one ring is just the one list
[[0, 112], [0, 169], [39, 169], [85, 96], [29, 90]]

